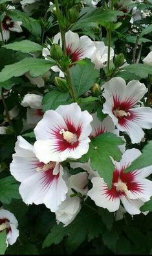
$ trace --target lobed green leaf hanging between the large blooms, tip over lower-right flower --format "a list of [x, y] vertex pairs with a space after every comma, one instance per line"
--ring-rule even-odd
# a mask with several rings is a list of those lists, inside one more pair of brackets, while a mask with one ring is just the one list
[[89, 151], [80, 159], [81, 162], [87, 162], [91, 159], [92, 169], [98, 171], [109, 188], [111, 187], [114, 171], [114, 165], [109, 156], [116, 161], [120, 160], [122, 153], [118, 146], [122, 144], [124, 142], [121, 138], [113, 133], [101, 134], [91, 140]]

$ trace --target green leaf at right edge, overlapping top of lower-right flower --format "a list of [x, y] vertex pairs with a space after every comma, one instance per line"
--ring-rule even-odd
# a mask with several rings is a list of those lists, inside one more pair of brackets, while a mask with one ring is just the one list
[[152, 140], [147, 143], [146, 146], [144, 146], [144, 149], [142, 149], [142, 155], [138, 157], [136, 160], [132, 162], [132, 164], [125, 169], [125, 172], [131, 172], [134, 170], [140, 170], [144, 167], [147, 167], [152, 164]]

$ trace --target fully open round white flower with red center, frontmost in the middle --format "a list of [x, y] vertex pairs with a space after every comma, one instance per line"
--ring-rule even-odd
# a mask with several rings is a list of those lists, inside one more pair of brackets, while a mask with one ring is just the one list
[[92, 116], [77, 103], [47, 110], [34, 129], [35, 153], [42, 162], [79, 159], [89, 149]]

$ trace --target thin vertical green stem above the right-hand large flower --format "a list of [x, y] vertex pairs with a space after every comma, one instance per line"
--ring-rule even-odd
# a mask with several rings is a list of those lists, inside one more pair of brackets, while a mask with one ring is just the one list
[[[113, 0], [110, 0], [110, 9], [113, 10]], [[107, 81], [109, 81], [109, 71], [110, 71], [110, 59], [111, 59], [111, 32], [112, 32], [113, 22], [110, 22], [109, 29], [107, 30], [108, 37], [108, 51], [107, 51]]]

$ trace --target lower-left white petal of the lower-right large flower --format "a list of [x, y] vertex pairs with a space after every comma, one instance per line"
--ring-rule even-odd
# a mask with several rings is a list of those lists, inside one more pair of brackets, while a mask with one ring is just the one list
[[89, 190], [87, 195], [92, 200], [94, 200], [97, 206], [106, 208], [109, 212], [117, 211], [120, 206], [120, 199], [119, 198], [112, 199], [106, 196], [104, 189], [105, 189], [105, 186], [107, 187], [107, 185], [105, 184], [103, 179], [100, 177], [94, 177], [92, 178], [91, 181], [92, 181], [93, 187], [91, 188], [91, 190]]

